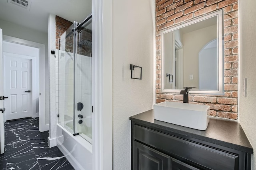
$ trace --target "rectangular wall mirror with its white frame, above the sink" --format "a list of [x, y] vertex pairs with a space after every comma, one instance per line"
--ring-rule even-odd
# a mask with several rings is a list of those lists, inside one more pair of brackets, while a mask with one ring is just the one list
[[224, 94], [223, 10], [161, 32], [162, 92]]

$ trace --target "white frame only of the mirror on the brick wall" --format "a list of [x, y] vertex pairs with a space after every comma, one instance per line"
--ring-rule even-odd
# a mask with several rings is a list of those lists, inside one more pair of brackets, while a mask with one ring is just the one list
[[182, 27], [197, 23], [208, 18], [217, 16], [217, 39], [218, 39], [218, 90], [189, 90], [190, 93], [194, 94], [218, 94], [224, 95], [224, 28], [223, 28], [223, 10], [218, 10], [205, 16], [197, 17], [195, 19], [186, 21], [179, 25], [174, 25], [164, 31], [161, 31], [161, 92], [164, 93], [180, 93], [180, 90], [184, 89], [165, 89], [164, 88], [164, 34], [180, 29]]

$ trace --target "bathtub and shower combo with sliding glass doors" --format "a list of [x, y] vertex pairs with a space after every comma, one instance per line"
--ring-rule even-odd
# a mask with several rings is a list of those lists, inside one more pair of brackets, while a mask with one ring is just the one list
[[57, 146], [79, 170], [92, 169], [91, 18], [60, 36], [56, 57]]

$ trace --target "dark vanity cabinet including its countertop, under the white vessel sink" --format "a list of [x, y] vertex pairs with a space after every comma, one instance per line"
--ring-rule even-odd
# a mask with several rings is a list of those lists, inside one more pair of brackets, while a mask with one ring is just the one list
[[154, 120], [153, 110], [130, 120], [132, 170], [251, 169], [252, 147], [236, 121], [211, 118], [199, 131]]

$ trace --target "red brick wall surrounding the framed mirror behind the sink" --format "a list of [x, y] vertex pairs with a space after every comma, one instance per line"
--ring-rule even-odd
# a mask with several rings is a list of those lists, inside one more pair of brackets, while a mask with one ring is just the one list
[[190, 94], [190, 103], [210, 106], [210, 115], [238, 118], [238, 0], [156, 0], [156, 103], [181, 102], [179, 94], [161, 93], [161, 31], [173, 25], [224, 10], [225, 95]]

